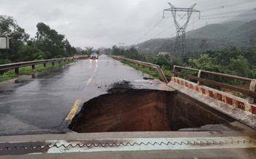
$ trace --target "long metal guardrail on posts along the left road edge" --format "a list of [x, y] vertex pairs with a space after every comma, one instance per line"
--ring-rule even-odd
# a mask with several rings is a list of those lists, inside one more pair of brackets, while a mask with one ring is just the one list
[[60, 58], [60, 59], [10, 63], [10, 64], [6, 64], [6, 65], [0, 65], [0, 71], [1, 70], [15, 69], [15, 73], [19, 74], [19, 68], [23, 68], [23, 67], [26, 67], [26, 66], [32, 66], [32, 69], [34, 69], [35, 65], [39, 65], [39, 64], [44, 64], [44, 67], [46, 67], [46, 64], [49, 63], [49, 62], [52, 62], [52, 64], [55, 65], [55, 62], [61, 63], [61, 61], [66, 62], [66, 60], [70, 61], [70, 60], [74, 60], [74, 58], [73, 57], [67, 57], [67, 58]]

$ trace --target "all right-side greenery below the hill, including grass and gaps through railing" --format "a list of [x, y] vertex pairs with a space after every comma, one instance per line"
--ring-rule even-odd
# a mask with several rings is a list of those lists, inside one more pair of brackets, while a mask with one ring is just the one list
[[[205, 52], [188, 52], [185, 57], [171, 57], [168, 54], [160, 56], [144, 56], [139, 54], [134, 48], [131, 49], [118, 49], [116, 46], [112, 49], [112, 55], [120, 55], [133, 60], [141, 60], [144, 62], [150, 62], [156, 65], [160, 65], [167, 79], [172, 76], [171, 70], [174, 65], [185, 66], [189, 68], [195, 68], [198, 70], [208, 70], [217, 73], [225, 73], [233, 76], [241, 76], [246, 78], [256, 78], [256, 48], [237, 49], [236, 47], [228, 47], [220, 50], [207, 50]], [[193, 56], [192, 56], [193, 55]], [[161, 79], [157, 70], [141, 65], [136, 65], [132, 62], [123, 61], [123, 63], [130, 65], [137, 70], [141, 70], [143, 73], [147, 73], [153, 78]], [[197, 76], [197, 74], [190, 70], [182, 70], [183, 73]], [[249, 82], [230, 80], [230, 78], [220, 78], [219, 76], [205, 76], [205, 78], [218, 81], [221, 83], [227, 83], [240, 88], [248, 89]], [[186, 80], [196, 82], [190, 78]], [[220, 89], [217, 86], [212, 86], [206, 83], [206, 86], [214, 89]], [[229, 89], [221, 89], [222, 91], [236, 95], [238, 97], [247, 98], [246, 94], [241, 94]]]

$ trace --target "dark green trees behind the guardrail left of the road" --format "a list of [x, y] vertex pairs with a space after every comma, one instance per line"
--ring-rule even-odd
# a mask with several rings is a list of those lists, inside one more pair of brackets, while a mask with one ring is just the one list
[[64, 35], [44, 23], [37, 23], [31, 38], [13, 17], [0, 15], [0, 36], [9, 37], [9, 49], [0, 49], [0, 65], [12, 62], [72, 57], [77, 50]]

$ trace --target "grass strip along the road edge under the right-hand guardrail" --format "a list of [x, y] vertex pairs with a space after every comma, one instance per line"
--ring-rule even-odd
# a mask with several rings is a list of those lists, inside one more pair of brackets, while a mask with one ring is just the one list
[[[129, 61], [125, 61], [125, 60], [123, 60], [121, 62], [123, 62], [126, 65], [131, 66], [132, 68], [135, 68], [136, 70], [141, 70], [141, 72], [147, 73], [148, 75], [152, 76], [153, 78], [162, 79], [162, 77], [159, 75], [158, 71], [155, 70], [155, 68], [152, 68], [150, 70], [150, 68], [147, 66], [137, 65], [137, 64], [134, 64], [133, 62], [129, 62]], [[161, 68], [161, 69], [163, 70], [163, 74], [166, 76], [166, 78], [169, 78], [172, 76], [172, 73], [170, 70], [166, 70], [164, 68]]]

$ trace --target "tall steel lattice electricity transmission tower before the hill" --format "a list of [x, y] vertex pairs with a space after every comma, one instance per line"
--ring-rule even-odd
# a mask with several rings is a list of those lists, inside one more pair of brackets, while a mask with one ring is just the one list
[[[179, 54], [181, 57], [185, 54], [185, 48], [186, 48], [186, 41], [185, 41], [185, 31], [187, 28], [187, 24], [190, 21], [190, 17], [193, 12], [199, 12], [199, 19], [200, 19], [200, 11], [193, 9], [195, 7], [195, 4], [189, 8], [177, 8], [174, 7], [174, 5], [168, 3], [171, 8], [164, 9], [163, 10], [163, 17], [165, 11], [171, 11], [172, 17], [174, 18], [174, 24], [177, 30], [177, 36], [175, 41], [175, 54]], [[185, 15], [179, 15], [179, 12], [187, 12]], [[183, 18], [187, 15], [187, 20], [185, 24], [180, 25], [177, 21], [177, 15], [179, 16], [180, 20], [183, 20]], [[180, 21], [179, 20], [179, 21]]]

